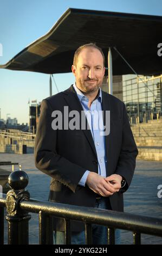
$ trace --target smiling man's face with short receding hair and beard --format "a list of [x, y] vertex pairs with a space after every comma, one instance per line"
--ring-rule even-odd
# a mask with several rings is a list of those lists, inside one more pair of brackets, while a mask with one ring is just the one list
[[93, 47], [84, 48], [77, 57], [76, 66], [72, 65], [72, 72], [77, 88], [85, 93], [96, 92], [105, 74], [101, 52]]

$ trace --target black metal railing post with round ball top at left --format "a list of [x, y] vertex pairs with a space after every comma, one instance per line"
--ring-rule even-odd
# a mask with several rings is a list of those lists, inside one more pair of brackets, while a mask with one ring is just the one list
[[22, 170], [16, 170], [9, 175], [11, 190], [7, 193], [6, 207], [8, 215], [8, 244], [28, 245], [29, 243], [29, 220], [31, 216], [27, 211], [20, 208], [22, 200], [28, 200], [30, 194], [25, 190], [28, 185], [28, 175]]

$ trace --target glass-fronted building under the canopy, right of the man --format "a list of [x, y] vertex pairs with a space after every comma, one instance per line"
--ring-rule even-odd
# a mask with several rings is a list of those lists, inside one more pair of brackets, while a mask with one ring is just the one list
[[[101, 89], [108, 93], [108, 77], [103, 79]], [[113, 95], [123, 101], [129, 120], [135, 123], [162, 115], [162, 75], [113, 76]]]

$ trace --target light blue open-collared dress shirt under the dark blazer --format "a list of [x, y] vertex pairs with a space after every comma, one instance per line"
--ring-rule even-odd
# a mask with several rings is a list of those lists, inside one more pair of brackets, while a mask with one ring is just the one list
[[[92, 102], [90, 109], [88, 107], [88, 97], [86, 97], [77, 87], [73, 84], [73, 87], [79, 97], [83, 111], [86, 114], [90, 131], [92, 133], [93, 141], [95, 144], [96, 153], [98, 156], [98, 174], [106, 177], [106, 148], [105, 148], [105, 136], [101, 135], [100, 131], [103, 131], [103, 119], [102, 119], [102, 92], [99, 88], [99, 96]], [[79, 185], [85, 186], [89, 170], [83, 174]]]

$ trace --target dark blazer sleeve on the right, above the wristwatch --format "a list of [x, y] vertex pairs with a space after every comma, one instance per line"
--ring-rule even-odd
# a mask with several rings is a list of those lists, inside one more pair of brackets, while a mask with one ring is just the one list
[[135, 159], [138, 155], [138, 149], [129, 124], [126, 107], [124, 103], [123, 105], [122, 145], [118, 165], [115, 171], [116, 174], [119, 174], [126, 179], [126, 185], [121, 189], [121, 192], [125, 192], [131, 184], [135, 169]]

